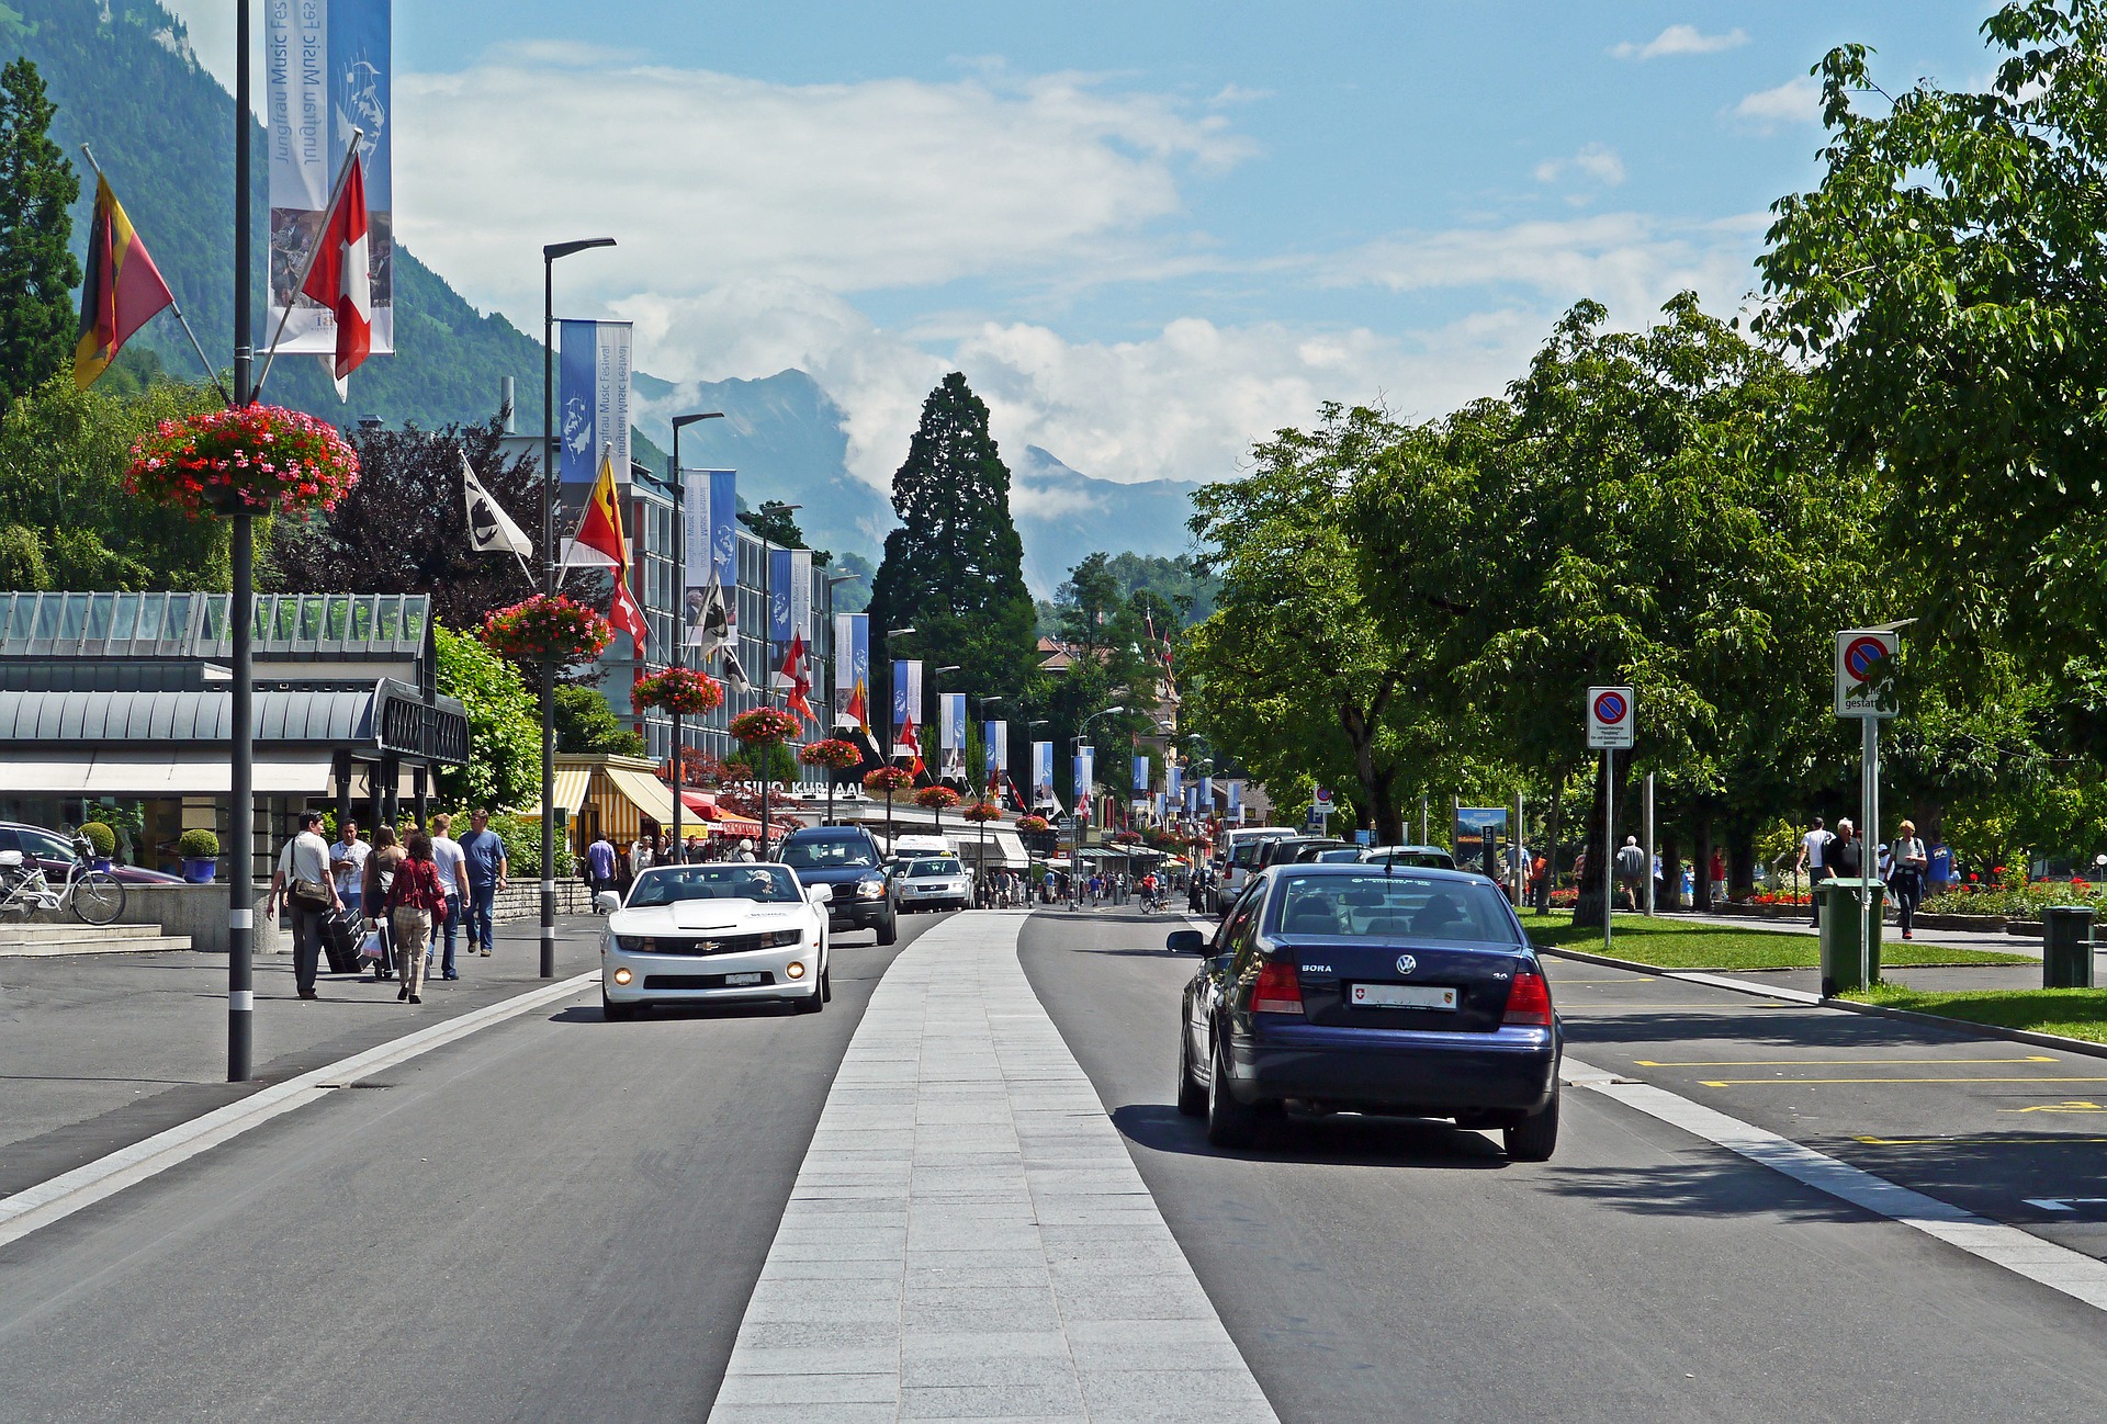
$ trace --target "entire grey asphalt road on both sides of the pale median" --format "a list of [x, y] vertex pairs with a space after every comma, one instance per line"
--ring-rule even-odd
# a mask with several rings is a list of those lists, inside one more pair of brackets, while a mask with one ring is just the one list
[[[0, 1247], [0, 1420], [706, 1418], [851, 1030], [938, 923], [841, 946], [820, 1017], [588, 992]], [[1171, 1108], [1178, 925], [1043, 912], [1020, 961], [1281, 1420], [2107, 1418], [2101, 1310], [1595, 1091], [1544, 1165], [1355, 1119], [1214, 1152]], [[2107, 1062], [1551, 975], [1576, 1057], [2107, 1253]]]

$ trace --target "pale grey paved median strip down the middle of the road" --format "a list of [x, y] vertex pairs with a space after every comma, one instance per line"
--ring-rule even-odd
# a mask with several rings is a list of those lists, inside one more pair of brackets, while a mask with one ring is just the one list
[[969, 912], [885, 975], [712, 1424], [1275, 1424], [1096, 1089]]

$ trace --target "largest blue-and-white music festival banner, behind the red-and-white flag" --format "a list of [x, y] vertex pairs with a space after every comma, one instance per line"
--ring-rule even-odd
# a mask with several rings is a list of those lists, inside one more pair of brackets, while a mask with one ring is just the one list
[[[107, 11], [107, 6], [103, 6]], [[373, 354], [394, 352], [394, 53], [390, 0], [276, 0], [263, 6], [263, 131], [270, 143], [270, 297], [263, 331], [282, 354], [337, 350], [335, 312], [297, 297], [352, 128], [367, 183]], [[590, 474], [586, 476], [592, 478]]]

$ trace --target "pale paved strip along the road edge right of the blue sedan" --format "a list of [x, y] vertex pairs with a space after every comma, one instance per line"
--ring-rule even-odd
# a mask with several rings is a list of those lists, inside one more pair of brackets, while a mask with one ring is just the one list
[[1603, 1097], [1614, 1097], [1627, 1108], [1637, 1108], [1671, 1127], [1681, 1127], [1694, 1138], [1747, 1156], [1751, 1163], [1761, 1163], [1818, 1192], [1848, 1201], [1863, 1211], [1901, 1222], [1903, 1226], [1922, 1230], [1926, 1237], [1936, 1237], [1951, 1247], [1960, 1247], [1991, 1266], [2004, 1266], [2052, 1291], [2063, 1291], [2094, 1310], [2107, 1310], [2107, 1262], [2059, 1247], [2016, 1226], [2002, 1226], [1936, 1196], [1896, 1186], [1886, 1178], [1875, 1178], [1871, 1171], [1839, 1163], [1791, 1138], [1742, 1123], [1652, 1083], [1616, 1079], [1574, 1057], [1563, 1060], [1559, 1076], [1574, 1087], [1587, 1087]]

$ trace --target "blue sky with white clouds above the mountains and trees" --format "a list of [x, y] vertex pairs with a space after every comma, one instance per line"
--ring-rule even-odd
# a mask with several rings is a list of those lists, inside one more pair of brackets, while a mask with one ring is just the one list
[[[225, 4], [171, 0], [209, 67]], [[1437, 415], [1559, 310], [1732, 310], [1816, 175], [1808, 67], [1981, 84], [1989, 4], [396, 6], [398, 230], [670, 379], [813, 371], [883, 482], [961, 367], [997, 436], [1222, 478], [1319, 400]]]

